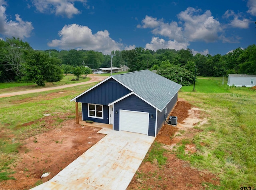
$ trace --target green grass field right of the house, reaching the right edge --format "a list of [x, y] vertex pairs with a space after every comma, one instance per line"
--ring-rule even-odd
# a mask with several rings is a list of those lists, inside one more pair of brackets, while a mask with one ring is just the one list
[[256, 188], [256, 90], [228, 87], [217, 78], [197, 79], [196, 91], [191, 89], [182, 87], [179, 97], [207, 110], [208, 124], [198, 127], [202, 132], [192, 139], [195, 156], [180, 158], [219, 176], [217, 189]]

